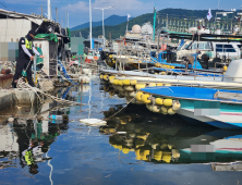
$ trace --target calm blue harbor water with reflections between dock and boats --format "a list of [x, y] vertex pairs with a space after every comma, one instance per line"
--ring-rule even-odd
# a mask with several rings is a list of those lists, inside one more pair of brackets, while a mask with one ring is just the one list
[[56, 95], [84, 106], [1, 112], [0, 184], [242, 184], [242, 131], [126, 104], [96, 78]]

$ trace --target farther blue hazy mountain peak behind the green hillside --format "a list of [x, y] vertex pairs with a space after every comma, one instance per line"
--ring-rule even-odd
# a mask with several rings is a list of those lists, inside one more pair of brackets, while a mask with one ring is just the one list
[[[130, 20], [131, 18], [132, 17], [130, 17]], [[114, 26], [114, 25], [121, 24], [123, 22], [126, 22], [126, 16], [111, 15], [105, 20], [105, 25]], [[93, 26], [102, 26], [102, 21], [93, 22], [92, 24], [93, 24]], [[81, 24], [78, 26], [75, 26], [75, 27], [71, 28], [71, 30], [83, 29], [86, 27], [89, 27], [89, 22]]]

